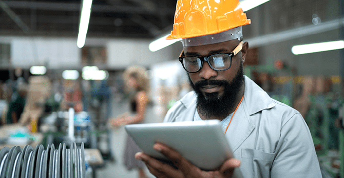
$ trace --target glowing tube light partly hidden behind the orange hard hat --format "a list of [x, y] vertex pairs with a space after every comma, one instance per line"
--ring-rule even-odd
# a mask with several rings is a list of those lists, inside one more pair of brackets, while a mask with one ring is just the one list
[[[244, 0], [244, 1], [241, 1], [240, 2], [240, 6], [238, 6], [237, 8], [242, 8], [243, 11], [248, 11], [250, 9], [253, 9], [261, 4], [264, 4], [266, 2], [268, 2], [270, 0]], [[161, 50], [165, 47], [168, 47], [170, 46], [171, 44], [177, 42], [177, 41], [180, 41], [181, 39], [166, 39], [166, 37], [168, 36], [169, 34], [155, 40], [155, 41], [152, 41], [150, 44], [149, 44], [149, 50], [151, 52], [155, 52], [155, 51], [158, 51], [158, 50]]]

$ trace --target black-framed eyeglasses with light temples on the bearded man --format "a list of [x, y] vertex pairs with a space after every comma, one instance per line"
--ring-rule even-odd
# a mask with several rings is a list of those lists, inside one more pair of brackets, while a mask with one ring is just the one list
[[242, 49], [243, 42], [231, 53], [218, 53], [209, 56], [184, 56], [184, 50], [180, 53], [179, 61], [182, 63], [186, 72], [196, 73], [202, 69], [203, 61], [207, 61], [209, 66], [215, 71], [225, 71], [231, 68], [232, 57]]

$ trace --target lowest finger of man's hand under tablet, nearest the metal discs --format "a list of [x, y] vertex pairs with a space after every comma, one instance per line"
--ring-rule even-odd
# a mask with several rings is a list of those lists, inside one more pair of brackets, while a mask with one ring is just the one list
[[183, 177], [182, 172], [178, 169], [156, 160], [145, 153], [136, 153], [135, 159], [143, 161], [146, 164], [149, 172], [156, 177]]

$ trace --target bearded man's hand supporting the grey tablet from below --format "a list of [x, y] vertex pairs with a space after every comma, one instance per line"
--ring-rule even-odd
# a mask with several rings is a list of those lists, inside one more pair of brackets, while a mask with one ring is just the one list
[[202, 177], [232, 177], [234, 168], [240, 166], [240, 161], [235, 159], [226, 160], [217, 171], [203, 171], [183, 158], [176, 150], [168, 146], [156, 143], [154, 149], [161, 152], [173, 165], [163, 163], [149, 155], [138, 152], [135, 158], [142, 160], [150, 173], [156, 177], [173, 178], [202, 178]]

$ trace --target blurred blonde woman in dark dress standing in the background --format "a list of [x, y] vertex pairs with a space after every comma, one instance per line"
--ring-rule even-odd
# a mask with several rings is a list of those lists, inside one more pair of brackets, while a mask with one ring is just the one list
[[[113, 126], [143, 122], [149, 101], [149, 80], [145, 75], [145, 71], [145, 69], [139, 66], [132, 66], [124, 72], [123, 79], [130, 95], [130, 115], [122, 115], [120, 118], [112, 119]], [[124, 164], [128, 170], [137, 168], [139, 170], [139, 177], [144, 178], [147, 177], [144, 172], [145, 164], [135, 159], [135, 153], [140, 151], [141, 149], [136, 145], [135, 141], [130, 136], [127, 136]]]

